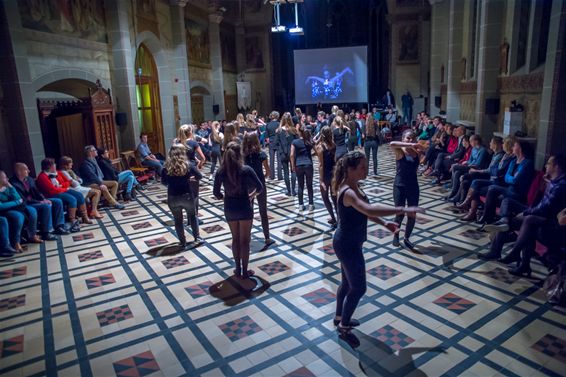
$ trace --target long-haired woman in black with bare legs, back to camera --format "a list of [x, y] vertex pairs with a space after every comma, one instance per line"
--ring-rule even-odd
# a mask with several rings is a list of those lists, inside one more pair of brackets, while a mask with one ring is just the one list
[[[224, 194], [220, 187], [224, 187]], [[213, 194], [224, 199], [224, 215], [232, 233], [232, 253], [236, 263], [234, 274], [249, 278], [248, 270], [250, 239], [254, 211], [252, 199], [263, 190], [263, 185], [253, 169], [242, 163], [240, 144], [230, 142], [222, 156], [222, 165], [214, 177]]]

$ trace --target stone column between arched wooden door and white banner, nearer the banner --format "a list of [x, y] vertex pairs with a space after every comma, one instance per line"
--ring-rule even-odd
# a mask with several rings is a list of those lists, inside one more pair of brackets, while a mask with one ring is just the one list
[[220, 22], [222, 16], [218, 13], [208, 15], [208, 39], [210, 41], [210, 63], [212, 66], [212, 95], [214, 105], [218, 105], [215, 119], [224, 119], [224, 77], [222, 76], [222, 50], [220, 48]]

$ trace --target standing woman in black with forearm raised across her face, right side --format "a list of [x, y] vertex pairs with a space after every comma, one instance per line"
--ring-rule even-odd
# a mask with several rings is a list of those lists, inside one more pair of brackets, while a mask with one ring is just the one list
[[[403, 141], [392, 141], [389, 145], [395, 151], [397, 173], [393, 184], [393, 201], [396, 206], [416, 207], [419, 205], [419, 181], [417, 179], [417, 169], [422, 146], [417, 143], [417, 136], [414, 131], [407, 130], [403, 133]], [[400, 213], [395, 217], [395, 222], [401, 227], [404, 214]], [[403, 243], [409, 250], [415, 246], [409, 237], [415, 227], [416, 216], [407, 215], [407, 226]], [[393, 246], [399, 246], [399, 233], [393, 235]]]

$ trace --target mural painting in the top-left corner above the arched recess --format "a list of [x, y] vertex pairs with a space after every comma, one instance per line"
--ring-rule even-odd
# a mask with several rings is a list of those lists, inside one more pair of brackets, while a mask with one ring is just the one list
[[27, 29], [106, 43], [102, 1], [18, 1], [22, 26]]

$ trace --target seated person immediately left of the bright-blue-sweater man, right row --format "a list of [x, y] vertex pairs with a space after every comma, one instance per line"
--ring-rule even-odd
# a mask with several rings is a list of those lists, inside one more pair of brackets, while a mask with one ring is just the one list
[[[462, 218], [464, 221], [471, 221], [476, 218], [477, 208], [479, 206], [480, 197], [487, 194], [487, 190], [491, 185], [505, 186], [505, 174], [509, 169], [509, 164], [515, 159], [513, 154], [513, 138], [507, 137], [503, 142], [503, 151], [505, 154], [501, 157], [497, 165], [491, 164], [489, 177], [481, 176], [471, 179], [470, 188], [463, 202], [456, 205], [461, 210], [469, 210], [468, 214]], [[492, 160], [493, 162], [493, 160]]]

